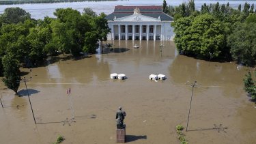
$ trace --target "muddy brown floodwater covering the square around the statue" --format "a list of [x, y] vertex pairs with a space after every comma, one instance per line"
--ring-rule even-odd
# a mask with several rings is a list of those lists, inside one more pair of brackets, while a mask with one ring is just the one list
[[[38, 124], [25, 84], [17, 97], [1, 83], [0, 143], [52, 143], [58, 134], [65, 136], [63, 143], [115, 143], [118, 106], [127, 113], [129, 143], [179, 143], [175, 126], [186, 126], [191, 96], [186, 81], [201, 85], [194, 90], [190, 131], [184, 132], [189, 143], [256, 143], [255, 105], [242, 89], [249, 68], [177, 55], [173, 42], [162, 44], [160, 50], [160, 42], [115, 41], [103, 55], [53, 57], [32, 72], [23, 69], [32, 76], [27, 86]], [[113, 81], [114, 72], [128, 78]], [[152, 82], [150, 74], [167, 79]], [[76, 122], [63, 123], [71, 118], [68, 88]]]

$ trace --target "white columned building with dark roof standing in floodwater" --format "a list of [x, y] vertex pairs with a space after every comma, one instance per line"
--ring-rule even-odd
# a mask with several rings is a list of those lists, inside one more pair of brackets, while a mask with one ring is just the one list
[[173, 18], [162, 6], [115, 6], [106, 16], [111, 33], [108, 40], [173, 40]]

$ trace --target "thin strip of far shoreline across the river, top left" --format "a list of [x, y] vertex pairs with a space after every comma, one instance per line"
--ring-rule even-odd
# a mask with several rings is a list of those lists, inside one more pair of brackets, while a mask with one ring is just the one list
[[[123, 0], [22, 0], [22, 1], [0, 1], [0, 5], [16, 5], [16, 4], [27, 4], [27, 3], [72, 3], [82, 1], [123, 1]], [[128, 1], [128, 0], [126, 0]]]

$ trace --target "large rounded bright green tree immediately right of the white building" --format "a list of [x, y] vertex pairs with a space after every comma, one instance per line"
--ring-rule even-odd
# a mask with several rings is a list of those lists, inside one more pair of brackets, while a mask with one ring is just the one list
[[173, 23], [177, 49], [196, 57], [218, 57], [225, 41], [223, 24], [210, 14], [180, 18]]

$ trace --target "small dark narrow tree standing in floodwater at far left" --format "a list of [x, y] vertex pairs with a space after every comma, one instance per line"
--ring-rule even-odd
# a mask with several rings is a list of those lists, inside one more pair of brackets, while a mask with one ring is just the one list
[[15, 93], [20, 86], [20, 66], [18, 60], [12, 54], [5, 55], [3, 57], [3, 83], [8, 89], [12, 89]]

